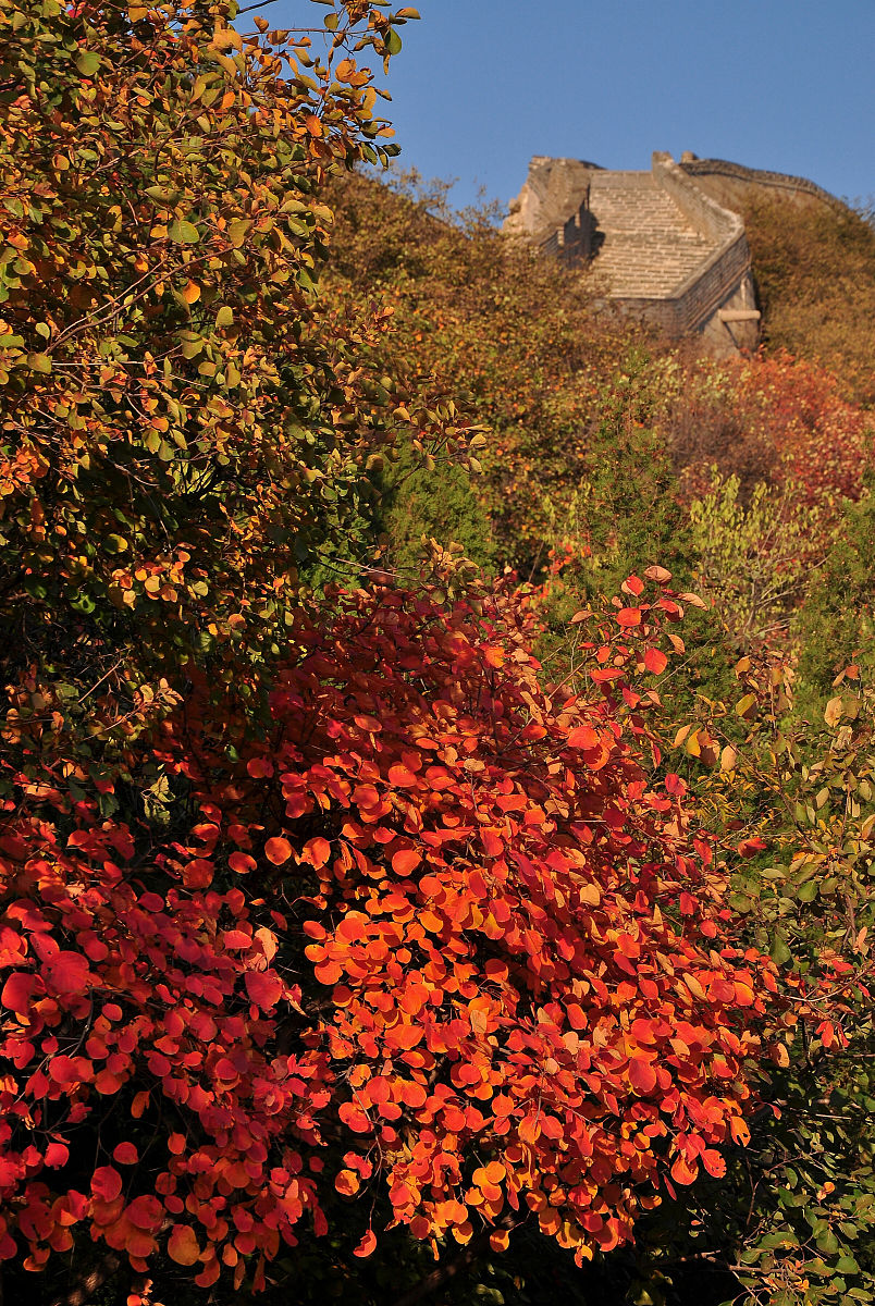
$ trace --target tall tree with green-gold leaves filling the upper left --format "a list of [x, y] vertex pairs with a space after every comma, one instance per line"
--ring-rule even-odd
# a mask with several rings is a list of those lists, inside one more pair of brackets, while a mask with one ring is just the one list
[[0, 12], [0, 602], [31, 757], [118, 739], [189, 665], [246, 683], [370, 460], [445, 441], [451, 410], [375, 362], [384, 315], [316, 298], [325, 178], [394, 150], [355, 50], [388, 57], [405, 12], [338, 0], [324, 54], [235, 14]]

